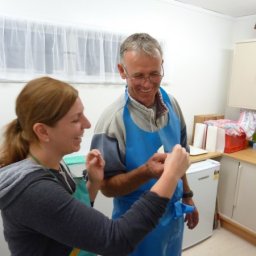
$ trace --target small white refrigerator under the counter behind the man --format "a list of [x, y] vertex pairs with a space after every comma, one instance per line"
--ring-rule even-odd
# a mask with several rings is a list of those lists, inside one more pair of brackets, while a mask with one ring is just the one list
[[186, 172], [189, 186], [194, 192], [193, 200], [199, 211], [199, 223], [192, 230], [185, 224], [182, 249], [205, 240], [213, 233], [219, 170], [219, 162], [207, 159], [191, 164]]

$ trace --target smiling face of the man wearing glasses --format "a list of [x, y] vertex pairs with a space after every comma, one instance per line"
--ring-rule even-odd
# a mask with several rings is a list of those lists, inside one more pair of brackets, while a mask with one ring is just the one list
[[156, 57], [136, 51], [127, 51], [123, 64], [118, 65], [120, 75], [126, 79], [131, 97], [146, 107], [155, 102], [163, 75], [162, 57], [157, 52]]

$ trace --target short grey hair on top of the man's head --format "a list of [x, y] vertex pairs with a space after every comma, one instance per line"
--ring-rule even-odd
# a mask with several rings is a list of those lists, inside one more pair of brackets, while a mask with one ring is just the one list
[[135, 33], [127, 37], [120, 46], [120, 60], [123, 61], [126, 51], [144, 52], [149, 56], [158, 56], [157, 51], [163, 56], [159, 42], [147, 33]]

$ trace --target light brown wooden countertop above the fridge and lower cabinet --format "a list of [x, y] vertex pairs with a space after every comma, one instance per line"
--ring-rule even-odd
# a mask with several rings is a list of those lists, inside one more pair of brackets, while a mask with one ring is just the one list
[[252, 148], [246, 148], [244, 150], [240, 150], [234, 153], [208, 152], [207, 154], [190, 156], [190, 161], [191, 163], [195, 163], [206, 159], [217, 158], [221, 156], [230, 157], [239, 161], [244, 161], [256, 165], [256, 150]]

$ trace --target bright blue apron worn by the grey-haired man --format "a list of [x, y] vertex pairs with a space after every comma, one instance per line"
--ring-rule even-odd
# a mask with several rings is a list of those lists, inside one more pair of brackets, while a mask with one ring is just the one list
[[[167, 93], [160, 88], [163, 101], [169, 109], [168, 123], [155, 132], [140, 129], [132, 120], [128, 109], [128, 94], [125, 93], [126, 105], [123, 119], [126, 129], [126, 167], [131, 171], [143, 165], [163, 145], [165, 152], [170, 152], [174, 145], [180, 144], [180, 120], [177, 118]], [[136, 191], [114, 198], [113, 219], [123, 215], [131, 205], [156, 182], [151, 179]], [[183, 184], [180, 179], [165, 214], [158, 226], [150, 232], [136, 247], [131, 256], [178, 256], [181, 255], [184, 228], [183, 213], [191, 212], [192, 207], [181, 203]]]

